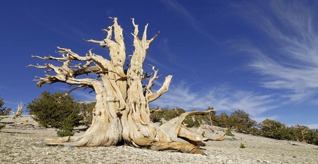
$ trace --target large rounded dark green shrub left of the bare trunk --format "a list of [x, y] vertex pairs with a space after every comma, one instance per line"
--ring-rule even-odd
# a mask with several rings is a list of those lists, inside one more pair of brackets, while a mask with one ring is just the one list
[[83, 120], [78, 100], [71, 95], [63, 96], [64, 94], [65, 92], [51, 94], [44, 91], [39, 98], [34, 98], [34, 101], [28, 103], [27, 109], [30, 114], [35, 115], [34, 120], [41, 126], [59, 128], [69, 117], [72, 117], [74, 126], [78, 126]]

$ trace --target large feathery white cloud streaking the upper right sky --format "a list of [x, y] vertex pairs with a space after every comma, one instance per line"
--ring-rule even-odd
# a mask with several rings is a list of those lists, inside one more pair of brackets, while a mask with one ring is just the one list
[[250, 45], [243, 49], [254, 56], [249, 66], [264, 77], [260, 85], [283, 90], [281, 97], [289, 103], [316, 96], [318, 34], [313, 26], [313, 11], [299, 1], [243, 3], [233, 7], [270, 39], [270, 48]]

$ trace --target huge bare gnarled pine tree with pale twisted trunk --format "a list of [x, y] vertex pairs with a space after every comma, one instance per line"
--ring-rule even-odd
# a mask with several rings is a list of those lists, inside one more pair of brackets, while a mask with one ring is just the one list
[[[150, 121], [149, 103], [156, 100], [164, 94], [169, 87], [171, 75], [167, 76], [163, 86], [156, 92], [152, 92], [153, 81], [158, 78], [157, 70], [153, 75], [148, 76], [144, 73], [143, 62], [146, 52], [155, 35], [147, 40], [147, 27], [145, 26], [142, 39], [138, 37], [138, 25], [134, 26], [133, 46], [135, 50], [132, 55], [126, 55], [124, 44], [123, 29], [117, 24], [117, 18], [114, 24], [104, 32], [107, 36], [104, 40], [85, 40], [86, 42], [98, 43], [109, 50], [110, 59], [106, 56], [96, 55], [89, 50], [88, 54], [80, 56], [70, 49], [59, 48], [61, 57], [38, 57], [41, 59], [57, 60], [63, 63], [63, 66], [33, 66], [36, 68], [49, 69], [55, 71], [56, 75], [46, 75], [45, 78], [38, 78], [37, 87], [43, 84], [52, 84], [62, 82], [69, 85], [77, 85], [76, 88], [91, 88], [96, 92], [96, 106], [93, 110], [93, 121], [91, 127], [82, 136], [68, 136], [60, 139], [47, 139], [44, 142], [47, 145], [65, 145], [65, 146], [110, 146], [125, 143], [132, 147], [146, 147], [151, 150], [172, 150], [185, 153], [200, 153], [195, 145], [202, 144], [202, 141], [222, 140], [223, 138], [207, 138], [204, 133], [193, 133], [183, 124], [183, 120], [188, 115], [198, 115], [210, 113], [209, 111], [192, 111], [183, 113], [162, 126], [158, 127]], [[111, 40], [112, 35], [114, 40]], [[130, 61], [126, 57], [131, 57]], [[72, 60], [86, 61], [85, 65], [73, 64]], [[124, 70], [127, 60], [128, 69]], [[93, 66], [90, 66], [94, 64]], [[79, 75], [94, 73], [98, 76], [96, 79], [77, 78]], [[147, 85], [143, 86], [142, 80], [149, 78]], [[74, 90], [72, 89], [72, 90]], [[72, 91], [71, 90], [71, 91]], [[176, 141], [177, 137], [182, 137], [189, 142]], [[190, 142], [192, 144], [190, 144]]]

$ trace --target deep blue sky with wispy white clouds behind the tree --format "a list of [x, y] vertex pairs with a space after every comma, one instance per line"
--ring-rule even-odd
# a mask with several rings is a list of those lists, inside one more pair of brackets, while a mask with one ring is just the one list
[[[257, 122], [266, 118], [288, 126], [318, 128], [318, 1], [1, 1], [0, 94], [16, 110], [41, 92], [70, 90], [66, 84], [35, 87], [51, 63], [31, 58], [59, 56], [56, 47], [85, 55], [108, 50], [83, 39], [102, 40], [101, 29], [124, 29], [126, 54], [132, 54], [133, 25], [148, 23], [150, 45], [145, 65], [173, 75], [169, 90], [152, 107], [244, 110]], [[151, 68], [145, 70], [151, 72]], [[84, 78], [86, 78], [84, 76]], [[154, 88], [155, 89], [155, 88]], [[76, 90], [75, 98], [94, 93]]]

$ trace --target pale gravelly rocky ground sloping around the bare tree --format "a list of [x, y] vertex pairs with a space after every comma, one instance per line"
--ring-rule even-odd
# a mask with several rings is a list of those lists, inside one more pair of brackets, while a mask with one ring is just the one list
[[[17, 121], [33, 120], [30, 116], [1, 120], [9, 124]], [[209, 141], [202, 147], [208, 154], [204, 156], [128, 146], [44, 146], [41, 140], [57, 137], [55, 129], [9, 124], [0, 131], [0, 163], [318, 163], [318, 146], [235, 132], [235, 136], [226, 136], [224, 141]], [[241, 144], [246, 148], [240, 148]]]

